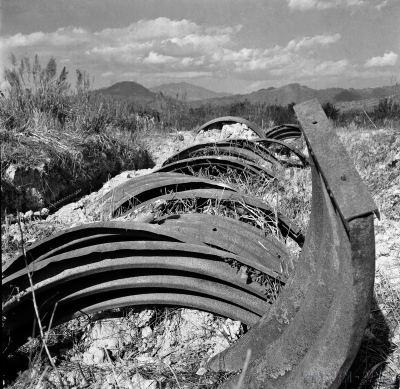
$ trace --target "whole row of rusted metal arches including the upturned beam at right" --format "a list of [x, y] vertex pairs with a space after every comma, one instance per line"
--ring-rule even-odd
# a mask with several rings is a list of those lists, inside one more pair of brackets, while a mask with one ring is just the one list
[[[242, 387], [305, 387], [315, 372], [346, 371], [359, 346], [372, 293], [376, 206], [317, 101], [294, 109], [310, 157], [296, 155], [303, 165], [310, 163], [313, 193], [308, 232], [289, 279], [281, 273], [281, 263], [290, 261], [289, 250], [274, 236], [243, 223], [247, 220], [238, 204], [261, 210], [284, 237], [301, 245], [303, 238], [293, 221], [232, 186], [170, 172], [191, 173], [197, 161], [201, 165], [208, 160], [239, 173], [264, 174], [263, 169], [251, 168], [265, 162], [262, 167], [269, 169], [280, 163], [267, 145], [274, 135], [273, 141], [284, 146], [279, 140], [282, 128], [269, 131], [269, 139], [264, 139], [258, 127], [240, 119], [260, 132], [259, 139], [230, 139], [182, 150], [165, 163], [166, 170], [127, 181], [103, 199], [107, 213], [126, 216], [157, 199], [167, 204], [173, 198], [215, 196], [218, 204], [231, 207], [237, 220], [192, 213], [165, 215], [152, 224], [111, 220], [71, 228], [29, 247], [26, 257], [3, 268], [3, 354], [30, 335], [34, 312], [29, 271], [44, 323], [55, 303], [54, 323], [143, 303], [190, 306], [241, 320], [251, 329], [216, 355], [209, 368], [241, 368], [250, 349]], [[236, 119], [228, 116], [213, 122]], [[293, 128], [289, 130], [294, 133], [298, 128]], [[212, 149], [217, 156], [209, 154]], [[187, 164], [191, 167], [184, 170]], [[265, 174], [265, 179], [273, 177]], [[263, 281], [240, 278], [233, 261], [263, 274]], [[268, 282], [285, 284], [273, 304]], [[317, 387], [337, 387], [342, 378], [325, 377]]]

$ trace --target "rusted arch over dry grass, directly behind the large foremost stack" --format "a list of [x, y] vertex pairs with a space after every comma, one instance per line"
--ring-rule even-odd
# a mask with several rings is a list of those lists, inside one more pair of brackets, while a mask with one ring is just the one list
[[[133, 206], [129, 210], [122, 213], [119, 217], [126, 218], [137, 208], [146, 206], [158, 200], [166, 201], [168, 204], [175, 201], [183, 201], [186, 199], [194, 199], [196, 201], [197, 207], [199, 208], [209, 206], [209, 201], [213, 200], [214, 202], [217, 202], [217, 205], [220, 208], [227, 208], [236, 211], [236, 215], [241, 221], [245, 221], [246, 219], [248, 219], [249, 209], [252, 209], [254, 210], [254, 212], [259, 212], [259, 214], [262, 215], [265, 221], [270, 225], [277, 225], [280, 233], [284, 238], [288, 236], [299, 245], [302, 245], [304, 241], [304, 237], [298, 225], [285, 215], [281, 213], [276, 214], [275, 210], [269, 205], [241, 193], [229, 192], [220, 189], [196, 189], [167, 193]], [[243, 204], [247, 209], [243, 208]], [[240, 208], [240, 211], [238, 208]]]

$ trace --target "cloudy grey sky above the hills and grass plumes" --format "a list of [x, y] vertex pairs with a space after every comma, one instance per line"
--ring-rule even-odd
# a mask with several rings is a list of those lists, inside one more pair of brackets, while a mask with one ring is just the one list
[[400, 81], [400, 0], [0, 0], [0, 67], [52, 56], [75, 81], [248, 93]]

